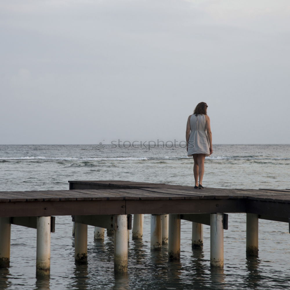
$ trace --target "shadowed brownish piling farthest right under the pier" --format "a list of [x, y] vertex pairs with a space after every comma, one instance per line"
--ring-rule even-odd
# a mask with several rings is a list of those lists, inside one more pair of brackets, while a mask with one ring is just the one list
[[258, 256], [258, 215], [247, 213], [246, 255]]

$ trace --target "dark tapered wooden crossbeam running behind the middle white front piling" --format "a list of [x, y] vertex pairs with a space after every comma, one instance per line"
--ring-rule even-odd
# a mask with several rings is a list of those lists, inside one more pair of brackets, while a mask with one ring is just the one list
[[[114, 230], [115, 219], [113, 215], [72, 215], [72, 221], [89, 226]], [[127, 215], [128, 230], [132, 229], [132, 215]]]

